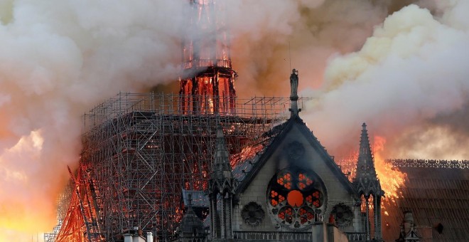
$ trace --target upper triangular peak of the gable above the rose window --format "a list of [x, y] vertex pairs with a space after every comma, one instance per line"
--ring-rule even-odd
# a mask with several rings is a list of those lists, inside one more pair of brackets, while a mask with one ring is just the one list
[[[300, 140], [301, 142], [299, 142]], [[333, 158], [298, 116], [294, 116], [286, 123], [275, 127], [270, 139], [262, 140], [259, 142], [259, 146], [262, 148], [256, 152], [256, 155], [238, 161], [234, 166], [234, 177], [240, 182], [237, 192], [242, 193], [262, 167], [267, 162], [273, 162], [274, 164], [269, 165], [274, 165], [279, 169], [289, 166], [300, 169], [311, 169], [311, 167], [326, 169], [325, 167], [327, 167], [328, 172], [334, 174], [344, 189], [355, 193], [352, 184], [335, 164]], [[313, 157], [311, 155], [304, 156], [306, 149]]]

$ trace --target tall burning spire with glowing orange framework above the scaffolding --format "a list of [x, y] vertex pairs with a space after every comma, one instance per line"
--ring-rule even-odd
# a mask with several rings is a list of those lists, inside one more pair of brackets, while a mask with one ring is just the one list
[[190, 28], [183, 40], [179, 94], [185, 113], [232, 113], [236, 92], [230, 39], [220, 15], [223, 4], [191, 0]]

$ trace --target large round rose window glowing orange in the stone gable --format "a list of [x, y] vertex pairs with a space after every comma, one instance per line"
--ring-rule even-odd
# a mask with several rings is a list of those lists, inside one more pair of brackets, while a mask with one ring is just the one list
[[282, 170], [269, 183], [269, 211], [283, 226], [306, 228], [314, 221], [320, 221], [323, 187], [313, 172]]

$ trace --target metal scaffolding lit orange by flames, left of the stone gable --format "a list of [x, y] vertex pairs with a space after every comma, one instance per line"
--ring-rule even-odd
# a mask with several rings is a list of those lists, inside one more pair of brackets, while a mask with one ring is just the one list
[[168, 240], [182, 215], [181, 190], [207, 187], [217, 127], [237, 154], [290, 115], [288, 98], [237, 99], [230, 113], [181, 112], [180, 100], [120, 93], [85, 115], [80, 166], [57, 241], [121, 241], [131, 231]]

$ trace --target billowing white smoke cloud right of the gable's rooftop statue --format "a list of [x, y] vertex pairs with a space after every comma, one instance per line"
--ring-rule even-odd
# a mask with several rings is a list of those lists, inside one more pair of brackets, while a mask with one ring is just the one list
[[373, 135], [387, 138], [388, 157], [467, 159], [467, 128], [461, 136], [432, 121], [469, 102], [463, 14], [469, 4], [449, 3], [427, 1], [432, 11], [407, 6], [387, 17], [360, 51], [330, 60], [319, 101], [306, 116], [326, 147], [350, 145], [348, 137], [367, 122]]

